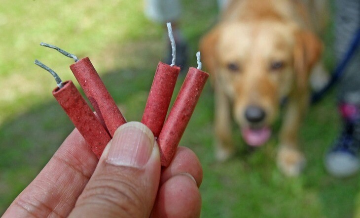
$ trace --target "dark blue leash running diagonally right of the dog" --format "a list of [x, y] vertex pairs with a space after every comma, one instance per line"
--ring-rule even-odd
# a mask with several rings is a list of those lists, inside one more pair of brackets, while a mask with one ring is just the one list
[[[334, 84], [338, 81], [338, 79], [343, 75], [344, 69], [346, 65], [349, 63], [350, 59], [353, 57], [355, 51], [357, 50], [360, 42], [360, 28], [356, 32], [354, 39], [352, 40], [348, 51], [344, 55], [341, 62], [337, 65], [334, 72], [332, 73], [331, 79], [328, 82], [328, 84], [323, 87], [320, 91], [313, 93], [311, 96], [311, 103], [317, 103], [319, 100], [321, 100], [324, 97], [324, 94], [334, 86]], [[360, 69], [359, 69], [360, 70]]]

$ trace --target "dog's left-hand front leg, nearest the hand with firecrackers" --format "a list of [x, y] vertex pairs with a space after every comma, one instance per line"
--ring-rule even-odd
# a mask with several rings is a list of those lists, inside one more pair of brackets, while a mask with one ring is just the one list
[[231, 134], [230, 102], [219, 82], [215, 83], [215, 155], [225, 161], [234, 153]]

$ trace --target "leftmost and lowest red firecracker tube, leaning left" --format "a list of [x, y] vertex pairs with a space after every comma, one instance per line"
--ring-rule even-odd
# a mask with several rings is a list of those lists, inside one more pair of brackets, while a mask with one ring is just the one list
[[77, 130], [89, 144], [94, 154], [100, 158], [110, 136], [86, 103], [72, 81], [63, 83], [64, 87], [56, 87], [52, 94], [69, 116]]

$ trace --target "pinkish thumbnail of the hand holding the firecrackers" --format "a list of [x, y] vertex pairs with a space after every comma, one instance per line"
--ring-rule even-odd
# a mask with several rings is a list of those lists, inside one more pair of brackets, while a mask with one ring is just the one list
[[142, 168], [151, 156], [154, 135], [144, 124], [129, 122], [114, 133], [107, 162], [117, 166]]

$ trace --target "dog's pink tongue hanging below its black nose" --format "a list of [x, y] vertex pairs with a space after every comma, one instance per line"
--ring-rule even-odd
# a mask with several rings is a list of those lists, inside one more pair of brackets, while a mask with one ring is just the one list
[[244, 128], [242, 133], [246, 143], [251, 146], [260, 146], [271, 136], [271, 130], [267, 127], [261, 129]]

